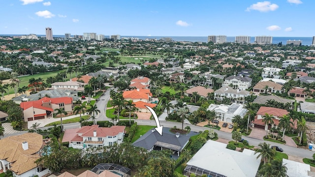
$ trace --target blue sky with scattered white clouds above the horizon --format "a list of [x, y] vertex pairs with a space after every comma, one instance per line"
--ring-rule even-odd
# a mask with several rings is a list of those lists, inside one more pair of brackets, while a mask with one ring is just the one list
[[315, 0], [0, 0], [0, 34], [315, 36]]

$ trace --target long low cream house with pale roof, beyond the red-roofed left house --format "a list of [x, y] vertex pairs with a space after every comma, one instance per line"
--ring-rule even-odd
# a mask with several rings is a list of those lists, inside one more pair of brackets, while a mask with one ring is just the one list
[[51, 84], [50, 89], [69, 89], [69, 90], [76, 90], [76, 91], [84, 91], [84, 86], [88, 85], [86, 83], [81, 83], [78, 81], [66, 81], [66, 82], [55, 82]]

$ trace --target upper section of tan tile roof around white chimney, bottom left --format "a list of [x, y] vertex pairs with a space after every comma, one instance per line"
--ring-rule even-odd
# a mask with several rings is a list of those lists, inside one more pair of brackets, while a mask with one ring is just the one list
[[[23, 142], [28, 142], [29, 149], [22, 148]], [[31, 155], [38, 152], [42, 145], [43, 137], [37, 133], [9, 136], [0, 140], [0, 159], [12, 163], [18, 160], [21, 154]]]

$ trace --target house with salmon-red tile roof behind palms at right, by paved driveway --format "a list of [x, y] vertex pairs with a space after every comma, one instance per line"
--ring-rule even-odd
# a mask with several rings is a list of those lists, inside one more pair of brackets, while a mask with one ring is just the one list
[[[266, 113], [274, 117], [273, 125], [269, 124], [268, 126], [266, 126], [266, 123], [262, 122], [263, 116], [265, 116]], [[288, 114], [289, 112], [287, 112], [284, 109], [261, 106], [256, 114], [256, 118], [252, 122], [252, 127], [263, 128], [264, 130], [267, 130], [267, 128], [270, 129], [271, 127], [274, 127], [274, 126], [278, 127], [280, 117], [283, 117], [284, 115], [288, 115]], [[291, 121], [293, 122], [292, 119]], [[297, 126], [296, 122], [295, 122], [295, 126]]]

